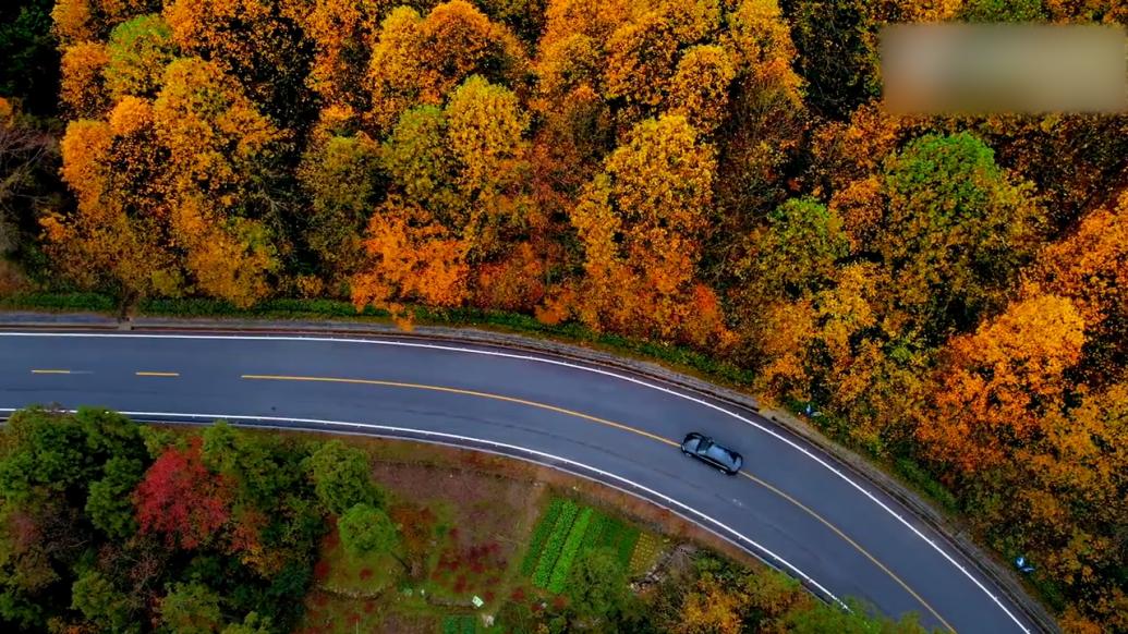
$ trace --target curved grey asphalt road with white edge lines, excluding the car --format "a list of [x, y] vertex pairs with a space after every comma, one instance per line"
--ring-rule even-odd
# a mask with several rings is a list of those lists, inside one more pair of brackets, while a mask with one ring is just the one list
[[[597, 367], [396, 337], [0, 332], [0, 411], [50, 403], [519, 454], [659, 501], [830, 600], [961, 633], [1034, 631], [933, 531], [778, 426]], [[743, 454], [741, 475], [684, 458], [694, 430]]]

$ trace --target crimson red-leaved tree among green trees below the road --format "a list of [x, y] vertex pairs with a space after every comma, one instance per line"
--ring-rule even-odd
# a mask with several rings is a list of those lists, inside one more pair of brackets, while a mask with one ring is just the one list
[[133, 494], [141, 531], [164, 535], [170, 546], [195, 548], [209, 541], [231, 514], [231, 488], [208, 470], [200, 447], [195, 437], [187, 449], [166, 449]]

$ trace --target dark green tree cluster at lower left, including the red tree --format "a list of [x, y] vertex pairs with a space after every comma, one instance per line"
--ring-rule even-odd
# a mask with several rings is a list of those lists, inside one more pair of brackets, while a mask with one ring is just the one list
[[[223, 422], [170, 433], [105, 410], [17, 412], [0, 431], [0, 624], [291, 631], [328, 529], [311, 454], [359, 451], [318, 448]], [[382, 510], [358, 507], [358, 544], [397, 543]]]

